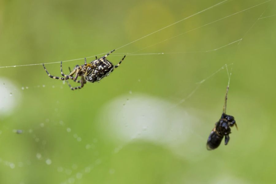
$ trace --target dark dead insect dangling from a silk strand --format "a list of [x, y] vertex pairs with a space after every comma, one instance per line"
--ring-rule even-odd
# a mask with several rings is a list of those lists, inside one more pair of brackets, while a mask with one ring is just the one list
[[234, 117], [226, 114], [226, 101], [227, 101], [228, 90], [229, 90], [229, 86], [227, 86], [227, 89], [226, 89], [223, 113], [219, 121], [215, 124], [215, 128], [213, 128], [212, 132], [209, 135], [209, 138], [207, 141], [207, 150], [213, 150], [219, 147], [224, 136], [225, 136], [224, 144], [227, 145], [230, 139], [229, 137], [229, 134], [231, 133], [230, 127], [235, 125], [236, 128], [238, 129]]

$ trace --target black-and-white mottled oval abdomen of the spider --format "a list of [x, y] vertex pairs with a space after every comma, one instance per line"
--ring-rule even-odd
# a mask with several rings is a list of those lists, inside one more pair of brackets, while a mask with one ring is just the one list
[[92, 61], [87, 68], [85, 79], [88, 82], [96, 82], [108, 76], [113, 71], [113, 64], [105, 58]]

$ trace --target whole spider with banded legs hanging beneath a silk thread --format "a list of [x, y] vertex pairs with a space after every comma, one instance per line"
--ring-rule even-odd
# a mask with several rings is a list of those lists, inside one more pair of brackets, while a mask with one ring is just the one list
[[[63, 77], [56, 77], [56, 76], [51, 75], [47, 71], [46, 67], [44, 66], [44, 63], [42, 65], [49, 77], [51, 77], [53, 79], [58, 79], [58, 80], [65, 80], [71, 90], [77, 90], [77, 89], [81, 89], [84, 86], [84, 84], [86, 84], [86, 82], [96, 82], [96, 81], [101, 80], [105, 76], [108, 76], [110, 74], [110, 72], [113, 71], [114, 68], [117, 68], [120, 66], [121, 62], [125, 59], [125, 56], [115, 66], [113, 66], [113, 64], [106, 59], [106, 57], [114, 51], [115, 50], [110, 51], [105, 56], [101, 57], [100, 59], [98, 59], [96, 56], [96, 59], [94, 61], [91, 61], [90, 63], [86, 63], [86, 58], [84, 58], [83, 65], [81, 65], [81, 66], [76, 65], [74, 67], [73, 71], [71, 71], [70, 67], [69, 67], [69, 71], [70, 71], [69, 75], [63, 74], [62, 61], [61, 61], [60, 62], [60, 72]], [[73, 77], [74, 74], [75, 74], [75, 77]], [[78, 77], [81, 77], [81, 79], [77, 80]], [[81, 83], [81, 86], [72, 87], [69, 84], [68, 79], [72, 79], [74, 82]]]

